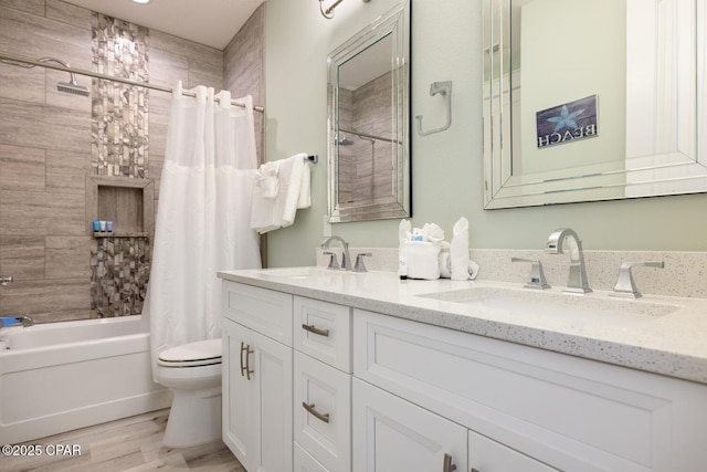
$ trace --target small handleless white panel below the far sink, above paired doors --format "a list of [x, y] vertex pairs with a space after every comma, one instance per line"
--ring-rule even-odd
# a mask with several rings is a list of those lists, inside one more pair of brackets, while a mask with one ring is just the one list
[[223, 281], [224, 317], [292, 347], [292, 295]]

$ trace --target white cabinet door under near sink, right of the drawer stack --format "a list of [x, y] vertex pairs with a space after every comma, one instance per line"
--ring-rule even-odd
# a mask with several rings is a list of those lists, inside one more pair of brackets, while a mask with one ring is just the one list
[[357, 378], [352, 385], [352, 470], [468, 470], [466, 428]]

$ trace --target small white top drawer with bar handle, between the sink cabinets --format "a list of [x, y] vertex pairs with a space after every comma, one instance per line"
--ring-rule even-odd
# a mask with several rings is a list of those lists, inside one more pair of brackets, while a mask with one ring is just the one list
[[351, 373], [351, 308], [295, 296], [294, 347]]

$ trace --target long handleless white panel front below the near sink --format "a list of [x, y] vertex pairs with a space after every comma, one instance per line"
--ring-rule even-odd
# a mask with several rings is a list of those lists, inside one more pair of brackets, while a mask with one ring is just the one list
[[358, 310], [354, 336], [356, 377], [558, 469], [706, 463], [704, 386]]

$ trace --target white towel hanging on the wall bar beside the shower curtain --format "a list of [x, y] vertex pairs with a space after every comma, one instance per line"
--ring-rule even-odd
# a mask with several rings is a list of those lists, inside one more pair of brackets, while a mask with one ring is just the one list
[[[251, 204], [251, 228], [260, 234], [285, 228], [294, 223], [298, 208], [308, 208], [312, 204], [309, 196], [309, 168], [305, 165], [306, 154], [296, 154], [287, 159], [267, 162], [261, 166], [261, 176], [272, 177], [272, 167], [277, 166], [277, 187], [275, 198], [267, 198], [263, 188], [258, 185], [258, 178], [253, 186], [253, 200]], [[304, 195], [303, 195], [304, 193]]]

